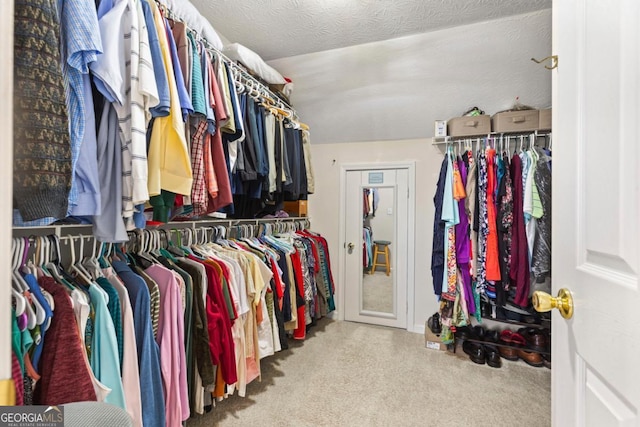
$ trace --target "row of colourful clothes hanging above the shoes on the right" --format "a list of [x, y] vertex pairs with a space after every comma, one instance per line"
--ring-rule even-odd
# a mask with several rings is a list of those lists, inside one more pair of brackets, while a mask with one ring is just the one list
[[[440, 306], [447, 337], [449, 328], [466, 324], [468, 316], [475, 313], [480, 318], [481, 295], [497, 307], [511, 304], [527, 308], [531, 273], [537, 278], [540, 272], [536, 281], [545, 283], [551, 253], [551, 217], [547, 210], [551, 170], [550, 157], [544, 150], [532, 147], [514, 153], [511, 160], [506, 152], [498, 154], [491, 147], [478, 150], [476, 157], [468, 150], [452, 164], [452, 175], [447, 171], [449, 157], [448, 149], [434, 197], [432, 252], [432, 274], [444, 269], [434, 276], [434, 292], [442, 292], [437, 286], [449, 290]], [[460, 218], [453, 233], [458, 267], [455, 274], [448, 265], [452, 259], [448, 249], [451, 232], [445, 222], [455, 216], [450, 208], [448, 213], [443, 211], [452, 202]], [[439, 263], [434, 262], [438, 258]]]

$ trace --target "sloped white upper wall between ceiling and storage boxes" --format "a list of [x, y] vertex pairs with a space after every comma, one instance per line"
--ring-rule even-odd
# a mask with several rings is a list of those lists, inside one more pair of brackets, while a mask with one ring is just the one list
[[434, 120], [516, 97], [551, 105], [551, 10], [270, 61], [290, 77], [292, 102], [314, 143], [433, 136]]

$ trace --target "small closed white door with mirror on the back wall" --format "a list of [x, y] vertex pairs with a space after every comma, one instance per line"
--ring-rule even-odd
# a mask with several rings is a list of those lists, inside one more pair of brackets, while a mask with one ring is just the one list
[[[407, 327], [408, 176], [408, 169], [346, 172], [345, 320]], [[372, 270], [375, 242], [388, 255]]]

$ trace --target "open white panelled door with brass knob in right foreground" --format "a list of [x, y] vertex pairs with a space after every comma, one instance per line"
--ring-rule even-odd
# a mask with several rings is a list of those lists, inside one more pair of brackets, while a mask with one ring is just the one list
[[553, 2], [555, 426], [640, 425], [640, 2]]

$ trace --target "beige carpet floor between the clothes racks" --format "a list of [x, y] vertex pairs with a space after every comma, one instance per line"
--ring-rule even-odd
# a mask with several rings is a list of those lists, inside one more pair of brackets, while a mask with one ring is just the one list
[[426, 349], [422, 335], [324, 320], [263, 360], [246, 398], [187, 426], [548, 426], [550, 379], [523, 362], [493, 369]]

